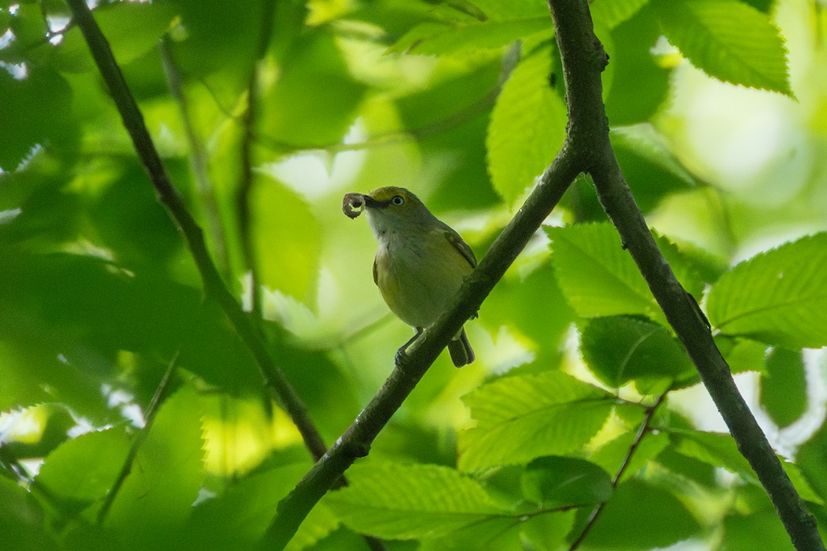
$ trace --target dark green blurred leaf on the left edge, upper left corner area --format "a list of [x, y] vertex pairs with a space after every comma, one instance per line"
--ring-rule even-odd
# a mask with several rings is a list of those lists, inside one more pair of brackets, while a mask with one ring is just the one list
[[65, 78], [49, 67], [28, 67], [22, 79], [0, 70], [0, 169], [8, 172], [35, 145], [49, 146], [69, 121], [72, 91]]

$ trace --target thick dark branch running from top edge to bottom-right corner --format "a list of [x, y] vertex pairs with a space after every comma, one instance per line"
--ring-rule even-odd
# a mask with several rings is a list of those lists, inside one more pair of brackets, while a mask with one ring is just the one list
[[548, 4], [557, 30], [557, 45], [566, 79], [568, 145], [581, 157], [584, 163], [581, 169], [590, 173], [595, 181], [600, 202], [617, 228], [624, 247], [629, 249], [667, 321], [686, 347], [739, 451], [767, 490], [792, 543], [800, 551], [825, 549], [815, 519], [807, 511], [735, 386], [729, 365], [716, 347], [696, 302], [681, 287], [655, 245], [620, 172], [609, 143], [609, 124], [602, 100], [599, 69], [603, 69], [606, 57], [595, 36], [588, 3], [586, 0], [548, 0]]

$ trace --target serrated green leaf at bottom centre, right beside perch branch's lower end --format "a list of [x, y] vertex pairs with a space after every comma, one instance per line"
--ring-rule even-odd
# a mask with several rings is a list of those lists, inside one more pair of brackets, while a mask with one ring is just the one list
[[351, 469], [326, 503], [352, 530], [380, 538], [433, 538], [507, 515], [480, 484], [452, 468], [381, 463]]

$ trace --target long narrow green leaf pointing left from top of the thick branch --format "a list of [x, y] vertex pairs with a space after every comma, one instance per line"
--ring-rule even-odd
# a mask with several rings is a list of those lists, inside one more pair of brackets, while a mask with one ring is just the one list
[[454, 25], [425, 22], [405, 33], [388, 50], [392, 53], [446, 55], [494, 50], [523, 36], [546, 31], [552, 36], [551, 17], [509, 21], [470, 21]]

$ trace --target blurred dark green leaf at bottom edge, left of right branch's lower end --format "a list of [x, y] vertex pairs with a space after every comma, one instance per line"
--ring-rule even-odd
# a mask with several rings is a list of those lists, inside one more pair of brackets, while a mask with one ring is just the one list
[[752, 515], [728, 515], [724, 519], [724, 540], [722, 551], [792, 551], [790, 536], [773, 511]]

